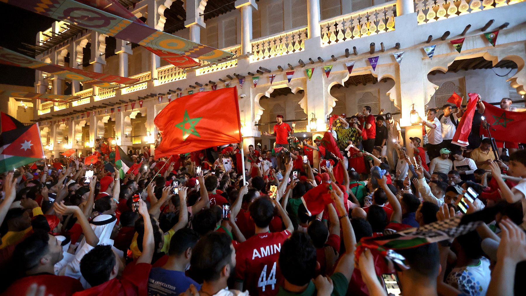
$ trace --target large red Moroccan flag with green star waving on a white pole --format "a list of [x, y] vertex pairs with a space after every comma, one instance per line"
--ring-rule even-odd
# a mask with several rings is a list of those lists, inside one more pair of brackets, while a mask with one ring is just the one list
[[155, 158], [194, 152], [241, 141], [237, 88], [180, 97], [154, 119], [163, 140]]

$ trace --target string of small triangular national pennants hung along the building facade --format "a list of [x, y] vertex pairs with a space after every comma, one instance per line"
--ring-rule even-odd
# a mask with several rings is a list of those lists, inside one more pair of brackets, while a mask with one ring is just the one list
[[[499, 35], [499, 30], [495, 30], [493, 32], [488, 32], [488, 33], [483, 33], [483, 35], [484, 35], [484, 37], [486, 39], [488, 39], [488, 42], [493, 47], [495, 47], [495, 45], [497, 44], [497, 36]], [[465, 39], [466, 38], [459, 38], [459, 39], [450, 40], [451, 45], [457, 50], [458, 53], [462, 52], [462, 45], [464, 44], [464, 40]], [[429, 45], [429, 46], [424, 46], [423, 47], [423, 50], [426, 53], [426, 55], [429, 57], [429, 59], [433, 58], [434, 50], [435, 50], [436, 46], [437, 45], [434, 44], [434, 45]], [[395, 57], [395, 60], [398, 63], [398, 65], [400, 65], [400, 63], [402, 62], [403, 54], [404, 54], [404, 52], [398, 52], [398, 53], [394, 53], [393, 54], [393, 56]], [[380, 56], [373, 56], [373, 57], [369, 57], [367, 59], [369, 60], [369, 64], [370, 64], [372, 70], [376, 71], [376, 66], [378, 65]], [[347, 67], [347, 71], [349, 72], [349, 74], [351, 74], [352, 68], [355, 66], [355, 63], [356, 63], [355, 60], [352, 60], [350, 62], [345, 62], [345, 65]], [[323, 71], [324, 71], [325, 75], [327, 76], [327, 78], [329, 78], [330, 72], [332, 70], [332, 66], [333, 65], [323, 66]], [[307, 75], [307, 78], [309, 78], [309, 80], [312, 78], [312, 74], [314, 73], [314, 70], [315, 70], [315, 68], [305, 69], [305, 73]], [[287, 77], [288, 83], [290, 83], [290, 80], [292, 80], [292, 76], [294, 76], [294, 74], [295, 74], [294, 70], [285, 72], [285, 75]], [[256, 87], [258, 85], [259, 78], [260, 78], [260, 76], [252, 77], [252, 84], [254, 85], [254, 87]], [[268, 75], [268, 79], [270, 81], [270, 84], [272, 84], [274, 82], [275, 78], [276, 78], [276, 74]], [[225, 87], [230, 87], [230, 82], [231, 81], [225, 81]], [[245, 83], [245, 78], [238, 79], [238, 82], [239, 82], [239, 88], [243, 88], [243, 85]], [[217, 84], [212, 85], [211, 88], [212, 88], [212, 90], [216, 90], [217, 89]], [[200, 87], [199, 91], [205, 91], [205, 87]], [[194, 94], [194, 90], [188, 90], [188, 95], [191, 95], [191, 94]], [[172, 96], [173, 95], [171, 95], [171, 94], [167, 95], [168, 103], [171, 102]], [[183, 96], [183, 92], [181, 91], [181, 92], [177, 93], [176, 96], [177, 96], [177, 98], [180, 98], [181, 96]], [[159, 100], [159, 103], [161, 103], [163, 98], [164, 98], [164, 96], [158, 96], [157, 97], [157, 99]], [[143, 100], [139, 100], [138, 103], [139, 103], [139, 108], [142, 108], [143, 107]], [[134, 103], [130, 103], [130, 104], [125, 104], [124, 105], [124, 111], [128, 110], [128, 105], [130, 105], [130, 107], [131, 107], [130, 110], [135, 109], [135, 102], [134, 102]], [[120, 112], [120, 111], [122, 111], [122, 106], [118, 106], [117, 107], [117, 112]], [[98, 110], [98, 115], [100, 115], [101, 112], [102, 112], [102, 110]], [[109, 108], [109, 112], [111, 114], [113, 114], [115, 112], [115, 108]], [[47, 121], [47, 124], [49, 124], [49, 125], [57, 124], [57, 123], [58, 124], [65, 124], [66, 122], [69, 122], [70, 119], [73, 121], [75, 119], [79, 120], [79, 119], [89, 118], [90, 114], [92, 114], [93, 116], [96, 116], [97, 111], [88, 111], [86, 113], [82, 113], [81, 115], [67, 117], [67, 118], [62, 118], [62, 120], [49, 120], [49, 121]], [[104, 114], [105, 115], [108, 114], [108, 109], [107, 108], [104, 110]], [[40, 123], [46, 123], [46, 121], [41, 121]]]

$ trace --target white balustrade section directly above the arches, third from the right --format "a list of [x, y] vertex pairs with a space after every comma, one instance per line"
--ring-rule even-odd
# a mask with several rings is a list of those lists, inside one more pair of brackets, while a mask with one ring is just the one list
[[265, 37], [251, 42], [250, 63], [273, 57], [302, 52], [305, 50], [307, 27], [297, 28], [272, 37]]

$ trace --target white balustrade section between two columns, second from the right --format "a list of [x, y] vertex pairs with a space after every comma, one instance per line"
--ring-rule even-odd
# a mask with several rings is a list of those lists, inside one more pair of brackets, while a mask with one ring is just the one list
[[389, 32], [395, 29], [396, 1], [322, 21], [321, 45]]

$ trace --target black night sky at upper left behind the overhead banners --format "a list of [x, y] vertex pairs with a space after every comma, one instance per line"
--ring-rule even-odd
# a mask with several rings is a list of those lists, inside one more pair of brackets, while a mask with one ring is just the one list
[[[0, 46], [24, 55], [28, 54], [18, 50], [18, 48], [28, 49], [22, 45], [22, 42], [35, 44], [36, 33], [51, 27], [55, 21], [5, 3], [0, 3], [0, 19], [4, 20]], [[0, 84], [33, 86], [35, 83], [35, 70], [32, 69], [0, 64], [0, 73]]]

